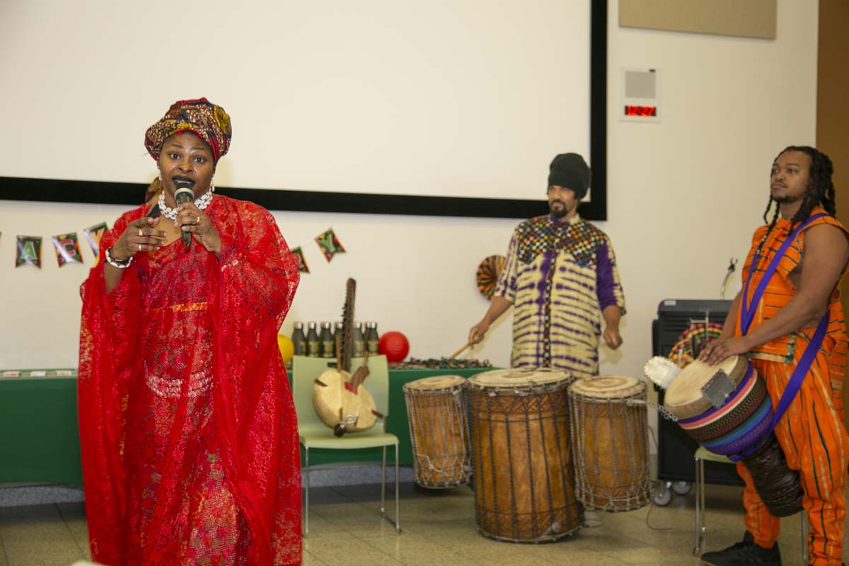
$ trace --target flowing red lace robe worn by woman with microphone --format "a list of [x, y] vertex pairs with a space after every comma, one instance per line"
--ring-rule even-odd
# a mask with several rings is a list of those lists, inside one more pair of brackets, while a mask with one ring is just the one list
[[[277, 344], [299, 273], [273, 217], [216, 196], [192, 240], [82, 284], [80, 444], [92, 557], [114, 566], [301, 563], [301, 461]], [[160, 222], [169, 221], [162, 218]]]

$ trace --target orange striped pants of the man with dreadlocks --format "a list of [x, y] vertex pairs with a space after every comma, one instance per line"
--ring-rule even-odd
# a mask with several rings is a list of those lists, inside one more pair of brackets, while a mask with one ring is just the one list
[[[757, 373], [778, 406], [793, 369], [808, 343], [802, 333], [796, 339], [793, 364], [752, 360]], [[813, 566], [841, 566], [843, 530], [846, 522], [846, 467], [849, 437], [843, 426], [843, 374], [846, 344], [826, 336], [796, 399], [775, 427], [787, 464], [799, 471], [805, 490], [803, 506], [811, 522], [808, 551]], [[742, 462], [737, 471], [745, 481], [745, 525], [755, 542], [768, 548], [779, 537], [779, 519], [763, 505]]]

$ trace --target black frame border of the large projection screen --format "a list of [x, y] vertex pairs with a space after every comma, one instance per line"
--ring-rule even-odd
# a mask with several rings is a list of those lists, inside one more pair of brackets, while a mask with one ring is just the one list
[[[581, 216], [607, 220], [607, 11], [608, 0], [590, 0], [590, 131], [589, 161], [593, 169], [591, 199]], [[216, 187], [234, 199], [250, 200], [267, 210], [529, 218], [548, 213], [540, 183], [539, 199], [430, 197], [406, 194], [331, 193], [296, 189]], [[65, 202], [95, 205], [141, 205], [147, 183], [73, 181], [0, 177], [0, 200]]]

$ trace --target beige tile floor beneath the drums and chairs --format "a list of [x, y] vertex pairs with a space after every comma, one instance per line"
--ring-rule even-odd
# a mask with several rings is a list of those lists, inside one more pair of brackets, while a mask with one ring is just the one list
[[[709, 485], [706, 546], [715, 550], [743, 534], [739, 488]], [[380, 519], [380, 486], [311, 490], [305, 566], [618, 566], [699, 564], [694, 546], [694, 493], [673, 496], [667, 507], [600, 513], [601, 525], [562, 541], [513, 544], [492, 541], [475, 529], [473, 493], [467, 487], [423, 490], [402, 485], [402, 530]], [[394, 505], [387, 507], [391, 510]], [[785, 566], [801, 564], [799, 516], [782, 521]], [[849, 546], [847, 546], [849, 547]], [[0, 508], [0, 566], [69, 566], [88, 557], [82, 503]]]

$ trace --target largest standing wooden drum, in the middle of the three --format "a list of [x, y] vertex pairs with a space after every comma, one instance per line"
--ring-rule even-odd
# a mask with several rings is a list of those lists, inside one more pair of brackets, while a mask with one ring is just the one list
[[571, 377], [495, 370], [466, 382], [478, 529], [500, 541], [556, 541], [581, 528], [575, 497]]

